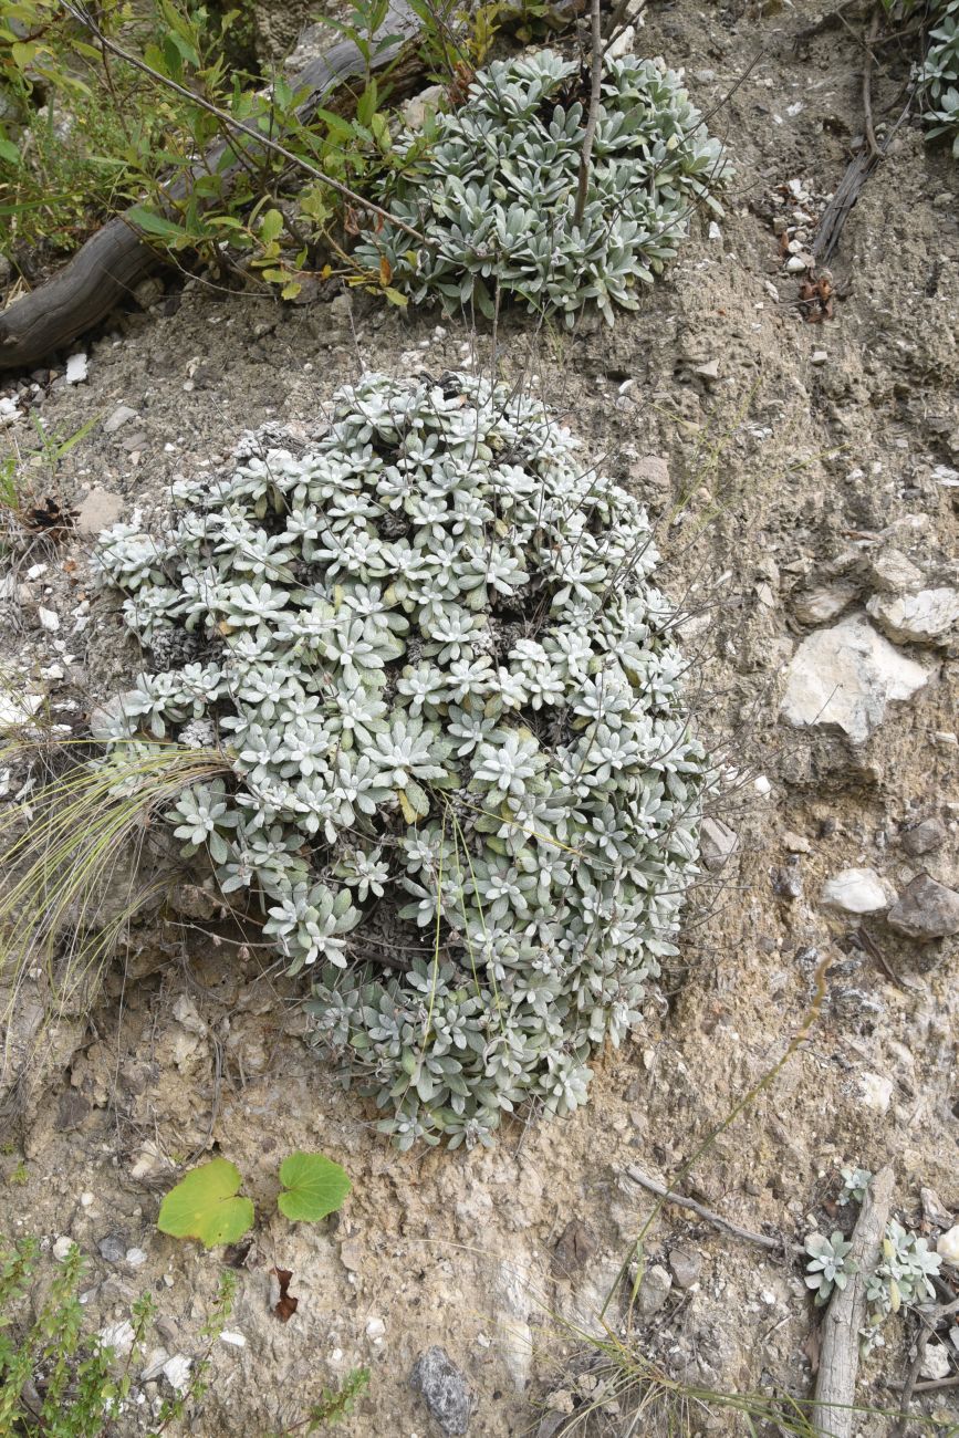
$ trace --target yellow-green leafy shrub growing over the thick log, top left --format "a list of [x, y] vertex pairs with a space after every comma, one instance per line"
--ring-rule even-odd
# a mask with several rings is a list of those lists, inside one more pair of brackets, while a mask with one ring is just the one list
[[[347, 20], [329, 22], [367, 65], [344, 115], [303, 109], [309, 91], [280, 75], [252, 88], [230, 59], [242, 10], [214, 17], [155, 0], [134, 14], [127, 0], [17, 0], [0, 22], [4, 249], [16, 262], [58, 236], [69, 250], [122, 210], [162, 249], [286, 299], [305, 278], [331, 275], [331, 257], [351, 280], [385, 288], [342, 249], [344, 224], [355, 227], [347, 201], [364, 203], [354, 187], [394, 162], [388, 66], [372, 73], [395, 39], [382, 35], [385, 13], [384, 0], [358, 0]], [[313, 177], [306, 187], [302, 171]]]

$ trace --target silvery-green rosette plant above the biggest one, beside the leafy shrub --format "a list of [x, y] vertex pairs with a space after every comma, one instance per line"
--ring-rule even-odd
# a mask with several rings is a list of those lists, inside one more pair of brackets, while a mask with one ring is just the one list
[[[414, 303], [431, 296], [450, 311], [492, 315], [497, 289], [568, 325], [589, 301], [610, 324], [615, 305], [635, 309], [693, 209], [722, 213], [729, 167], [679, 73], [610, 60], [577, 220], [588, 104], [579, 65], [551, 50], [477, 72], [466, 102], [427, 124], [426, 157], [393, 170], [377, 196], [428, 243], [387, 223], [365, 232], [355, 259]], [[400, 138], [400, 154], [413, 144]]]

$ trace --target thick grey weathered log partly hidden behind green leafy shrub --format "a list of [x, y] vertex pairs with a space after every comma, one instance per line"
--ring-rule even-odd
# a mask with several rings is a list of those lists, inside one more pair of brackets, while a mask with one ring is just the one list
[[[418, 29], [420, 20], [407, 0], [390, 0], [384, 30], [395, 35], [397, 40], [375, 55], [371, 65], [382, 68], [401, 59], [404, 52], [411, 53]], [[364, 72], [365, 60], [352, 40], [332, 45], [324, 56], [290, 76], [295, 89], [309, 86], [309, 96], [299, 106], [298, 119], [308, 124], [331, 91]], [[424, 66], [417, 60], [408, 79], [416, 75], [418, 81], [423, 73]], [[204, 165], [216, 173], [229, 148], [229, 141], [216, 141]], [[244, 147], [247, 161], [252, 152]], [[171, 186], [168, 193], [173, 200], [183, 198], [187, 193], [185, 181]], [[0, 370], [26, 368], [52, 349], [76, 339], [105, 319], [145, 275], [162, 263], [162, 253], [125, 216], [109, 220], [58, 275], [0, 313]]]

